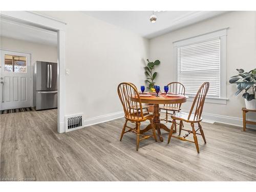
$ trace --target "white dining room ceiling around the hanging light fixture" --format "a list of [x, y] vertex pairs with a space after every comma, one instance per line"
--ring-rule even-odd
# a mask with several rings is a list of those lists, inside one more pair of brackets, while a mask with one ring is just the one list
[[156, 23], [150, 22], [152, 11], [82, 11], [92, 17], [152, 38], [200, 22], [225, 11], [159, 11]]

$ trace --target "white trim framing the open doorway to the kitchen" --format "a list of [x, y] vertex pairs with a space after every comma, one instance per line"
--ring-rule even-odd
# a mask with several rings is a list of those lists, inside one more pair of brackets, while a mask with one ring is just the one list
[[58, 133], [65, 132], [65, 31], [66, 23], [32, 11], [1, 11], [0, 16], [27, 25], [55, 31], [58, 34]]

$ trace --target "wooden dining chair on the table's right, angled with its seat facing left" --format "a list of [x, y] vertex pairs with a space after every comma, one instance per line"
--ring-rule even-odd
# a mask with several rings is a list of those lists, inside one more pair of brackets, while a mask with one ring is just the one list
[[[178, 139], [183, 140], [183, 141], [193, 142], [193, 143], [196, 144], [197, 153], [199, 153], [197, 135], [201, 135], [203, 137], [204, 143], [206, 143], [204, 132], [203, 132], [203, 129], [202, 129], [202, 126], [201, 126], [200, 122], [202, 121], [201, 115], [202, 115], [202, 112], [203, 112], [204, 100], [205, 100], [206, 94], [208, 92], [208, 89], [209, 89], [209, 82], [204, 82], [202, 84], [202, 86], [199, 88], [198, 92], [197, 92], [197, 95], [196, 95], [196, 97], [193, 101], [193, 104], [191, 106], [189, 114], [179, 112], [179, 113], [176, 113], [174, 115], [171, 115], [171, 117], [173, 119], [173, 123], [172, 123], [172, 126], [170, 127], [168, 143], [170, 142], [171, 137], [175, 137], [175, 138], [178, 138]], [[182, 126], [181, 126], [181, 123], [180, 123], [179, 135], [181, 134], [181, 130], [187, 131], [187, 133], [183, 137], [174, 136], [173, 135], [173, 130], [174, 130], [174, 125], [176, 124], [177, 120], [180, 120], [181, 122], [185, 121], [185, 122], [190, 123], [190, 125], [192, 127], [192, 131], [182, 129]], [[198, 129], [197, 130], [195, 130], [194, 123], [198, 123]], [[197, 133], [198, 130], [200, 131], [200, 134]], [[190, 133], [193, 133], [194, 141], [190, 141], [190, 140], [186, 139], [186, 137]]]

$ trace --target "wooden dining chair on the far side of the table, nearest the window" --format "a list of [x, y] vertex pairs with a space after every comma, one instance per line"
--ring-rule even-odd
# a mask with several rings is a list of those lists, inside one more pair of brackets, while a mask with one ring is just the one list
[[[169, 84], [167, 84], [167, 86], [169, 87], [169, 90], [168, 90], [169, 92], [172, 92], [174, 94], [185, 95], [185, 87], [183, 86], [182, 83], [180, 83], [180, 82], [170, 82]], [[161, 120], [166, 121], [166, 123], [167, 122], [172, 122], [172, 121], [168, 121], [168, 115], [173, 115], [176, 112], [179, 112], [181, 110], [181, 103], [164, 104], [163, 106], [160, 106], [159, 109], [160, 109], [160, 111], [165, 110], [165, 118], [161, 119]], [[172, 112], [172, 113], [168, 113], [169, 111]], [[179, 124], [179, 123], [177, 123], [177, 124]], [[174, 125], [175, 133], [177, 131], [177, 129], [176, 129], [177, 124]]]

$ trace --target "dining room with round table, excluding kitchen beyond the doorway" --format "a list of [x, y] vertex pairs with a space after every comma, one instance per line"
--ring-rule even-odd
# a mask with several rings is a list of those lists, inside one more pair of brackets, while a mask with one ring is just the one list
[[56, 30], [60, 92], [0, 115], [2, 181], [256, 181], [256, 11], [1, 17]]

